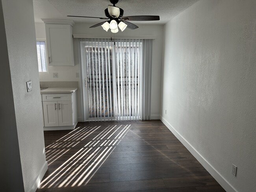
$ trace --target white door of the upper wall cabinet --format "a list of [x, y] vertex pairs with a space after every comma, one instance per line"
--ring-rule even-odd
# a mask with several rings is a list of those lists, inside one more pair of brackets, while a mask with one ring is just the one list
[[46, 24], [45, 30], [49, 65], [74, 65], [72, 26]]

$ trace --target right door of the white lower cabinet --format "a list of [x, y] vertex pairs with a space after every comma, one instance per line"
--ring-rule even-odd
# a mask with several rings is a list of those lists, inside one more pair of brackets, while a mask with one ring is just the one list
[[59, 126], [72, 126], [72, 104], [71, 101], [58, 102]]

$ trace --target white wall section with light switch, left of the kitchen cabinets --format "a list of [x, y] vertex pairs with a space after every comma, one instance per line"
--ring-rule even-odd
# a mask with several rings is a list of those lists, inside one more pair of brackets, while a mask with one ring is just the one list
[[[47, 163], [39, 92], [33, 2], [32, 0], [2, 0], [2, 7], [11, 75], [6, 75], [6, 78], [9, 78], [6, 81], [11, 81], [9, 89], [12, 88], [13, 95], [11, 95], [11, 91], [7, 93], [13, 98], [15, 109], [15, 116], [12, 114], [8, 118], [4, 114], [4, 117], [9, 120], [11, 126], [15, 126], [13, 122], [16, 121], [16, 127], [6, 125], [5, 127], [1, 126], [1, 129], [16, 129], [24, 183], [23, 190], [35, 191], [35, 187], [37, 187], [35, 185], [39, 182], [37, 179], [42, 170], [47, 169]], [[27, 92], [26, 81], [30, 80], [32, 81], [32, 91]], [[5, 81], [1, 81], [1, 85], [3, 83]], [[2, 92], [2, 94], [5, 93]], [[8, 103], [4, 102], [3, 105], [12, 107], [13, 103], [9, 101]], [[12, 141], [15, 144], [16, 140]], [[13, 146], [5, 145], [4, 147], [9, 151], [13, 149]], [[4, 175], [4, 173], [1, 174]], [[12, 188], [16, 188], [11, 191], [23, 191], [15, 181], [11, 185], [13, 185]]]

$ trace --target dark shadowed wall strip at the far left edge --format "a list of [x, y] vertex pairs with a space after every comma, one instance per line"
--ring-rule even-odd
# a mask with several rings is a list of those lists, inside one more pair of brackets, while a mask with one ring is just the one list
[[0, 1], [0, 26], [0, 85], [4, 90], [4, 93], [0, 95], [0, 146], [2, 155], [0, 158], [2, 175], [0, 184], [3, 191], [17, 191], [17, 189], [24, 191], [2, 1]]

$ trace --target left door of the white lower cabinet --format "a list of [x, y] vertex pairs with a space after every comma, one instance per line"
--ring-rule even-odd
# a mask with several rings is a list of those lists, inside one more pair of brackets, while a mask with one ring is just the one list
[[43, 102], [43, 111], [45, 127], [59, 126], [57, 102]]

